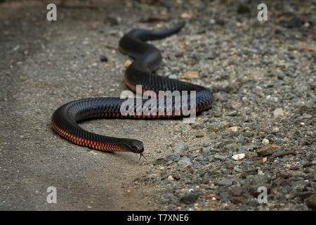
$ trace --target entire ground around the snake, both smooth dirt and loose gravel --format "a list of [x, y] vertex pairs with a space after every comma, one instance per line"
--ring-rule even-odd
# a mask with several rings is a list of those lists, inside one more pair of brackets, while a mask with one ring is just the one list
[[[268, 21], [257, 19], [261, 1], [89, 1], [61, 7], [54, 23], [46, 5], [27, 2], [0, 4], [0, 209], [315, 210], [315, 1], [266, 1]], [[152, 41], [157, 73], [213, 89], [211, 110], [191, 124], [81, 124], [144, 141], [139, 163], [51, 130], [62, 103], [126, 89], [124, 32], [182, 20], [179, 34]], [[47, 186], [60, 190], [54, 206]]]

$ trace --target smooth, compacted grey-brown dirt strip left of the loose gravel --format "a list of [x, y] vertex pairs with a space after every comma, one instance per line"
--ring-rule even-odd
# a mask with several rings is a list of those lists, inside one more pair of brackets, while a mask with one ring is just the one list
[[[105, 18], [119, 15], [123, 1], [96, 4], [101, 10], [58, 9], [58, 21], [51, 23], [42, 2], [0, 4], [0, 210], [152, 209], [133, 182], [150, 162], [75, 146], [51, 129], [50, 117], [63, 103], [119, 96], [126, 89], [128, 57], [103, 46], [118, 45], [122, 33], [116, 27], [109, 34]], [[109, 62], [100, 62], [101, 55]], [[93, 120], [81, 125], [99, 134], [139, 138], [152, 132], [148, 124]], [[57, 189], [57, 204], [46, 203], [48, 186]]]

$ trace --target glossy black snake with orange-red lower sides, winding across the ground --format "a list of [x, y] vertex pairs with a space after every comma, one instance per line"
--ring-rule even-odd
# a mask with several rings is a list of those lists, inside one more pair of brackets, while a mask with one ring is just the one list
[[[79, 122], [97, 118], [146, 120], [187, 116], [187, 112], [184, 112], [185, 110], [176, 110], [178, 108], [176, 107], [175, 96], [171, 96], [172, 99], [169, 102], [171, 106], [167, 105], [166, 101], [160, 102], [158, 98], [152, 96], [152, 93], [159, 94], [161, 93], [160, 91], [170, 91], [171, 93], [178, 91], [180, 93], [178, 96], [181, 99], [180, 106], [186, 103], [188, 105], [187, 110], [195, 110], [196, 113], [199, 113], [211, 108], [213, 105], [213, 93], [209, 89], [178, 79], [162, 77], [156, 73], [157, 68], [162, 62], [162, 53], [152, 45], [151, 41], [164, 39], [172, 34], [176, 34], [184, 25], [184, 22], [179, 23], [166, 30], [133, 28], [119, 40], [119, 50], [133, 58], [133, 63], [126, 68], [124, 83], [134, 92], [137, 91], [137, 86], [141, 85], [143, 94], [146, 91], [151, 91], [151, 95], [149, 94], [150, 97], [140, 99], [138, 105], [136, 103], [138, 98], [132, 98], [130, 102], [133, 103], [134, 101], [135, 104], [131, 105], [131, 107], [124, 105], [126, 104], [127, 97], [83, 98], [65, 103], [55, 110], [51, 116], [51, 124], [57, 134], [79, 146], [109, 152], [139, 153], [141, 158], [142, 156], [144, 157], [144, 144], [142, 141], [94, 134], [81, 128]], [[184, 98], [185, 95], [182, 93], [190, 94], [187, 94], [186, 98]], [[191, 93], [195, 93], [195, 98], [191, 98], [193, 96]], [[163, 95], [160, 94], [159, 96]], [[183, 99], [186, 100], [184, 101]], [[192, 99], [195, 100], [195, 105], [190, 105]], [[148, 101], [151, 101], [151, 103], [153, 103], [152, 101], [157, 101], [156, 107], [152, 107]], [[139, 108], [146, 104], [148, 105], [149, 112], [141, 112]], [[128, 109], [129, 113], [121, 113], [122, 108], [125, 110]]]

